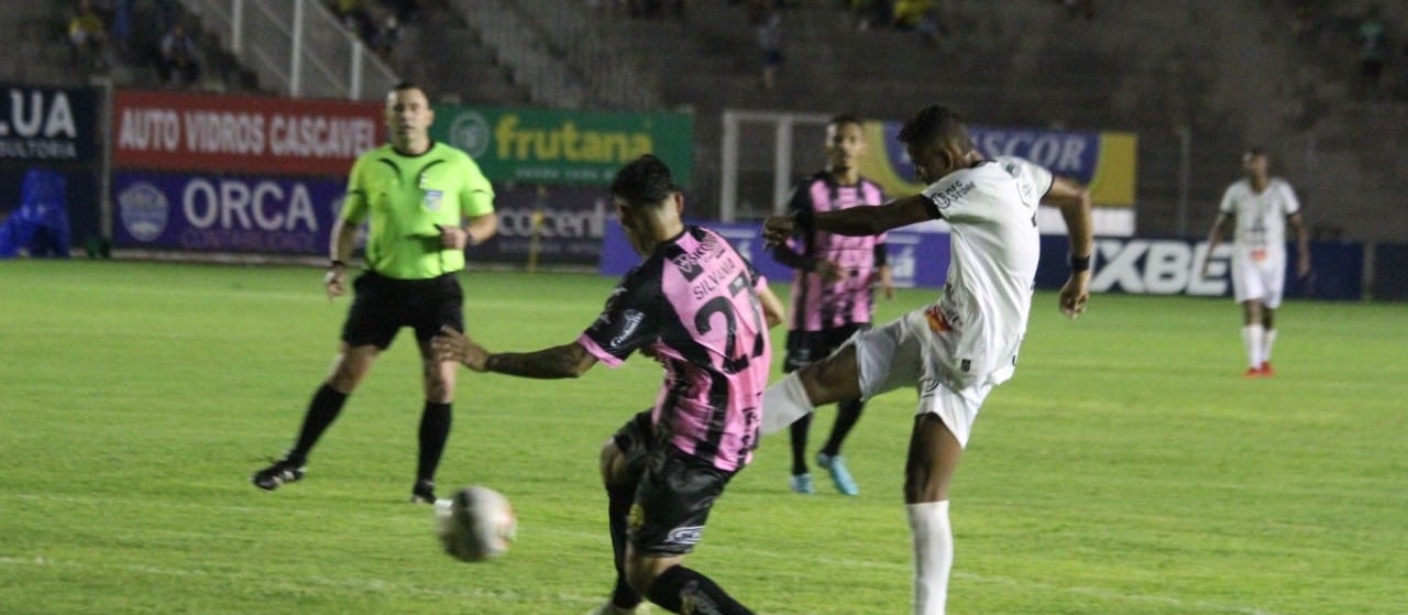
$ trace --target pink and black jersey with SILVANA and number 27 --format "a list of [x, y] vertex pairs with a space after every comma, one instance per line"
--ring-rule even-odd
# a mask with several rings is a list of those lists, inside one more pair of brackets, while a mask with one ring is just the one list
[[672, 446], [724, 471], [758, 446], [772, 345], [766, 280], [722, 236], [686, 227], [632, 269], [577, 343], [608, 366], [645, 349], [665, 366], [652, 421]]

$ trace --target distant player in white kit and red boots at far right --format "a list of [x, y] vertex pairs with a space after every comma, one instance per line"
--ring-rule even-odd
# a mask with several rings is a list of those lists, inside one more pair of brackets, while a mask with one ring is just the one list
[[[1286, 225], [1295, 231], [1297, 277], [1311, 272], [1309, 238], [1301, 222], [1301, 203], [1291, 184], [1271, 177], [1266, 152], [1250, 148], [1242, 156], [1246, 177], [1228, 186], [1218, 218], [1208, 232], [1208, 253], [1222, 241], [1228, 220], [1236, 227], [1232, 239], [1232, 294], [1242, 304], [1242, 343], [1246, 346], [1246, 377], [1274, 376], [1271, 345], [1276, 343], [1276, 308], [1286, 286]], [[1202, 277], [1208, 262], [1202, 262]]]

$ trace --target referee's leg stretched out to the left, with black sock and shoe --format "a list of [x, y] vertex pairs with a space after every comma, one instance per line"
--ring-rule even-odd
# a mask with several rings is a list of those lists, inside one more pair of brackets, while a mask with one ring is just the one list
[[322, 433], [337, 421], [342, 412], [342, 405], [346, 404], [348, 395], [356, 390], [358, 383], [370, 372], [379, 352], [380, 348], [376, 345], [351, 346], [346, 342], [341, 342], [338, 356], [332, 362], [332, 374], [313, 394], [308, 410], [303, 415], [303, 426], [298, 429], [298, 439], [294, 442], [293, 449], [289, 449], [283, 459], [256, 471], [251, 477], [255, 487], [272, 491], [284, 483], [303, 478], [308, 455]]

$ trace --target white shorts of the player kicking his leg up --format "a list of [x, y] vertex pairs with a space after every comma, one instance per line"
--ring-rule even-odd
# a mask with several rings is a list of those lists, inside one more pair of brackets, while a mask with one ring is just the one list
[[924, 310], [850, 338], [856, 346], [860, 370], [860, 397], [869, 400], [900, 387], [914, 387], [919, 394], [915, 414], [936, 414], [959, 445], [967, 446], [973, 421], [993, 384], [981, 374], [964, 374], [959, 384], [952, 376], [960, 372], [959, 359], [929, 329]]

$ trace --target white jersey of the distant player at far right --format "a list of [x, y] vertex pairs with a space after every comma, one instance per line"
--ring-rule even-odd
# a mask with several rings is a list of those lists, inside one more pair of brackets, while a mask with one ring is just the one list
[[1286, 265], [1286, 218], [1301, 211], [1291, 184], [1271, 177], [1266, 190], [1256, 193], [1252, 182], [1242, 179], [1222, 194], [1218, 211], [1236, 217], [1232, 258], [1262, 266]]

